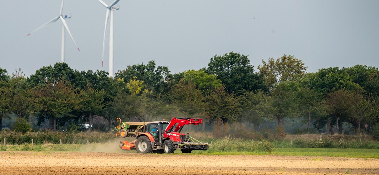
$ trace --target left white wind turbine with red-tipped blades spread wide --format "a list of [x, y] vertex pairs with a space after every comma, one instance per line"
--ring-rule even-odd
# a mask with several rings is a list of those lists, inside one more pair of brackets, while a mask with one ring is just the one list
[[[65, 46], [65, 34], [66, 34], [66, 30], [65, 30], [65, 29], [67, 29], [67, 32], [70, 34], [70, 37], [71, 37], [72, 41], [74, 41], [74, 43], [75, 43], [75, 40], [74, 40], [74, 38], [72, 37], [72, 35], [71, 35], [71, 33], [70, 33], [69, 26], [67, 26], [66, 20], [64, 20], [65, 18], [66, 18], [66, 19], [71, 18], [71, 14], [70, 14], [70, 15], [62, 15], [62, 11], [63, 11], [63, 1], [64, 1], [64, 0], [62, 0], [61, 11], [59, 12], [59, 15], [58, 15], [57, 17], [53, 18], [53, 19], [50, 20], [49, 22], [45, 23], [44, 25], [42, 25], [41, 27], [35, 29], [34, 31], [32, 31], [32, 32], [30, 33], [30, 34], [32, 34], [32, 33], [34, 33], [35, 31], [38, 31], [39, 29], [44, 28], [44, 27], [48, 26], [49, 24], [56, 22], [56, 20], [61, 19], [61, 21], [62, 21], [61, 62], [64, 62], [64, 52], [65, 52], [64, 46]], [[28, 34], [27, 36], [29, 36], [30, 34]], [[75, 43], [75, 46], [78, 48], [78, 45], [76, 45], [76, 43]], [[79, 48], [78, 48], [78, 50], [80, 51]]]

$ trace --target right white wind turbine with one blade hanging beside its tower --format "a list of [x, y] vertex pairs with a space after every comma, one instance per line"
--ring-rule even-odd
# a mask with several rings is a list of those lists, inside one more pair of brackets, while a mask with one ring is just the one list
[[111, 22], [110, 22], [110, 27], [109, 27], [109, 77], [113, 77], [113, 11], [120, 9], [120, 6], [113, 7], [114, 5], [117, 4], [120, 0], [115, 0], [113, 3], [110, 5], [106, 5], [105, 2], [102, 0], [99, 0], [102, 5], [105, 6], [106, 8], [106, 13], [105, 13], [105, 28], [104, 28], [104, 38], [103, 38], [103, 54], [101, 58], [101, 66], [103, 66], [104, 62], [104, 48], [105, 48], [105, 36], [106, 36], [106, 28], [108, 26], [108, 19], [109, 19], [109, 13]]

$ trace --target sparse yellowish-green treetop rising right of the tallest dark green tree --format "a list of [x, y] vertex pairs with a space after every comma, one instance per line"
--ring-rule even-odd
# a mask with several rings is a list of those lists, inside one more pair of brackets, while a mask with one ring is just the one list
[[277, 83], [284, 81], [295, 81], [304, 76], [307, 67], [302, 60], [294, 56], [284, 54], [282, 57], [269, 58], [268, 62], [262, 60], [259, 72], [263, 74], [268, 90], [272, 92]]

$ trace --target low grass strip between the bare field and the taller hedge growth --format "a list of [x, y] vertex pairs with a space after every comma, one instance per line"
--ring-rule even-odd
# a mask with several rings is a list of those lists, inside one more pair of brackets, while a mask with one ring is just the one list
[[[135, 150], [121, 150], [116, 143], [85, 144], [20, 144], [0, 146], [1, 151], [34, 152], [112, 152], [136, 153]], [[176, 150], [175, 153], [180, 153]], [[275, 148], [271, 153], [262, 151], [193, 151], [195, 155], [280, 155], [280, 156], [315, 156], [315, 157], [351, 157], [379, 159], [379, 149], [339, 149], [339, 148]]]

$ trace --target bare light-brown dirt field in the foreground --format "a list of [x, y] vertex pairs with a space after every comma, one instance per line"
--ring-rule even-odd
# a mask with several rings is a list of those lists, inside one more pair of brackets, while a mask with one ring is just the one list
[[[318, 160], [314, 160], [315, 158]], [[1, 175], [313, 175], [345, 173], [379, 174], [379, 159], [252, 155], [0, 152]]]

